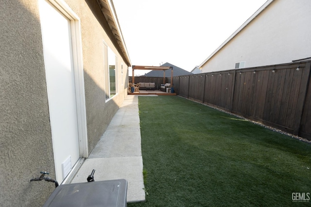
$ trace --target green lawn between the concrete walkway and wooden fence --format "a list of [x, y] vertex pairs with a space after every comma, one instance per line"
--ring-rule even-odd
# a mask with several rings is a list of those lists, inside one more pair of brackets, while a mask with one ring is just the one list
[[292, 201], [311, 192], [310, 144], [181, 97], [138, 101], [148, 195], [128, 207], [311, 206]]

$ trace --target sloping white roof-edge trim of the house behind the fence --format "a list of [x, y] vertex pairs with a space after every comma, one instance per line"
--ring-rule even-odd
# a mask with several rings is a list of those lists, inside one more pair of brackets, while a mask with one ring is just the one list
[[198, 68], [202, 68], [202, 66], [210, 59], [212, 58], [218, 51], [220, 51], [228, 42], [233, 39], [236, 35], [238, 35], [250, 22], [252, 22], [263, 10], [265, 10], [270, 3], [272, 3], [274, 0], [267, 0], [251, 17], [249, 17], [232, 35], [230, 35], [223, 44], [221, 44], [213, 53], [211, 53], [207, 59], [205, 59]]

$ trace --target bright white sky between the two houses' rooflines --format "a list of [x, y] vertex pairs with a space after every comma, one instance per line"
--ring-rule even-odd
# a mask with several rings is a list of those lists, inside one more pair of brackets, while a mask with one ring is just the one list
[[[113, 0], [132, 65], [191, 71], [266, 0]], [[135, 71], [144, 74], [146, 71]], [[131, 73], [130, 73], [131, 74]]]

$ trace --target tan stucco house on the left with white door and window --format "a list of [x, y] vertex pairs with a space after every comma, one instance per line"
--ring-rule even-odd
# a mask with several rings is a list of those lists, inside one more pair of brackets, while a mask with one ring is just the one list
[[[111, 0], [0, 7], [0, 203], [42, 206], [127, 96], [131, 62]], [[91, 170], [91, 169], [90, 169]]]

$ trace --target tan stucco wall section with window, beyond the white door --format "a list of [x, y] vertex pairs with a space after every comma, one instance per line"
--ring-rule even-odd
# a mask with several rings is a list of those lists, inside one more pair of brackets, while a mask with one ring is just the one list
[[[121, 87], [121, 81], [119, 81], [118, 95], [108, 102], [105, 101], [105, 83], [108, 83], [109, 77], [104, 73], [107, 63], [104, 44], [114, 51], [118, 62], [123, 60], [116, 48], [118, 44], [110, 39], [114, 39], [114, 36], [97, 1], [66, 0], [66, 3], [80, 17], [81, 21], [87, 143], [88, 153], [90, 153], [124, 100], [124, 90]], [[118, 73], [119, 80], [121, 80], [120, 75], [121, 72]]]

